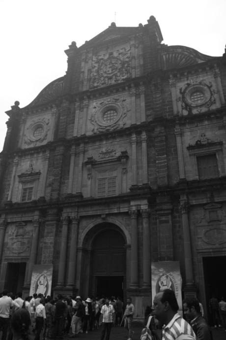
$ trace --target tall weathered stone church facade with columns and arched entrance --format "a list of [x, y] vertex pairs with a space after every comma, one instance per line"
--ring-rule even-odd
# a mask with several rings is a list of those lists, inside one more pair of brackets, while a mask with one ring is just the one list
[[162, 40], [153, 16], [112, 23], [6, 112], [0, 290], [52, 265], [53, 294], [131, 296], [142, 318], [151, 263], [178, 261], [183, 295], [224, 294], [226, 55]]

